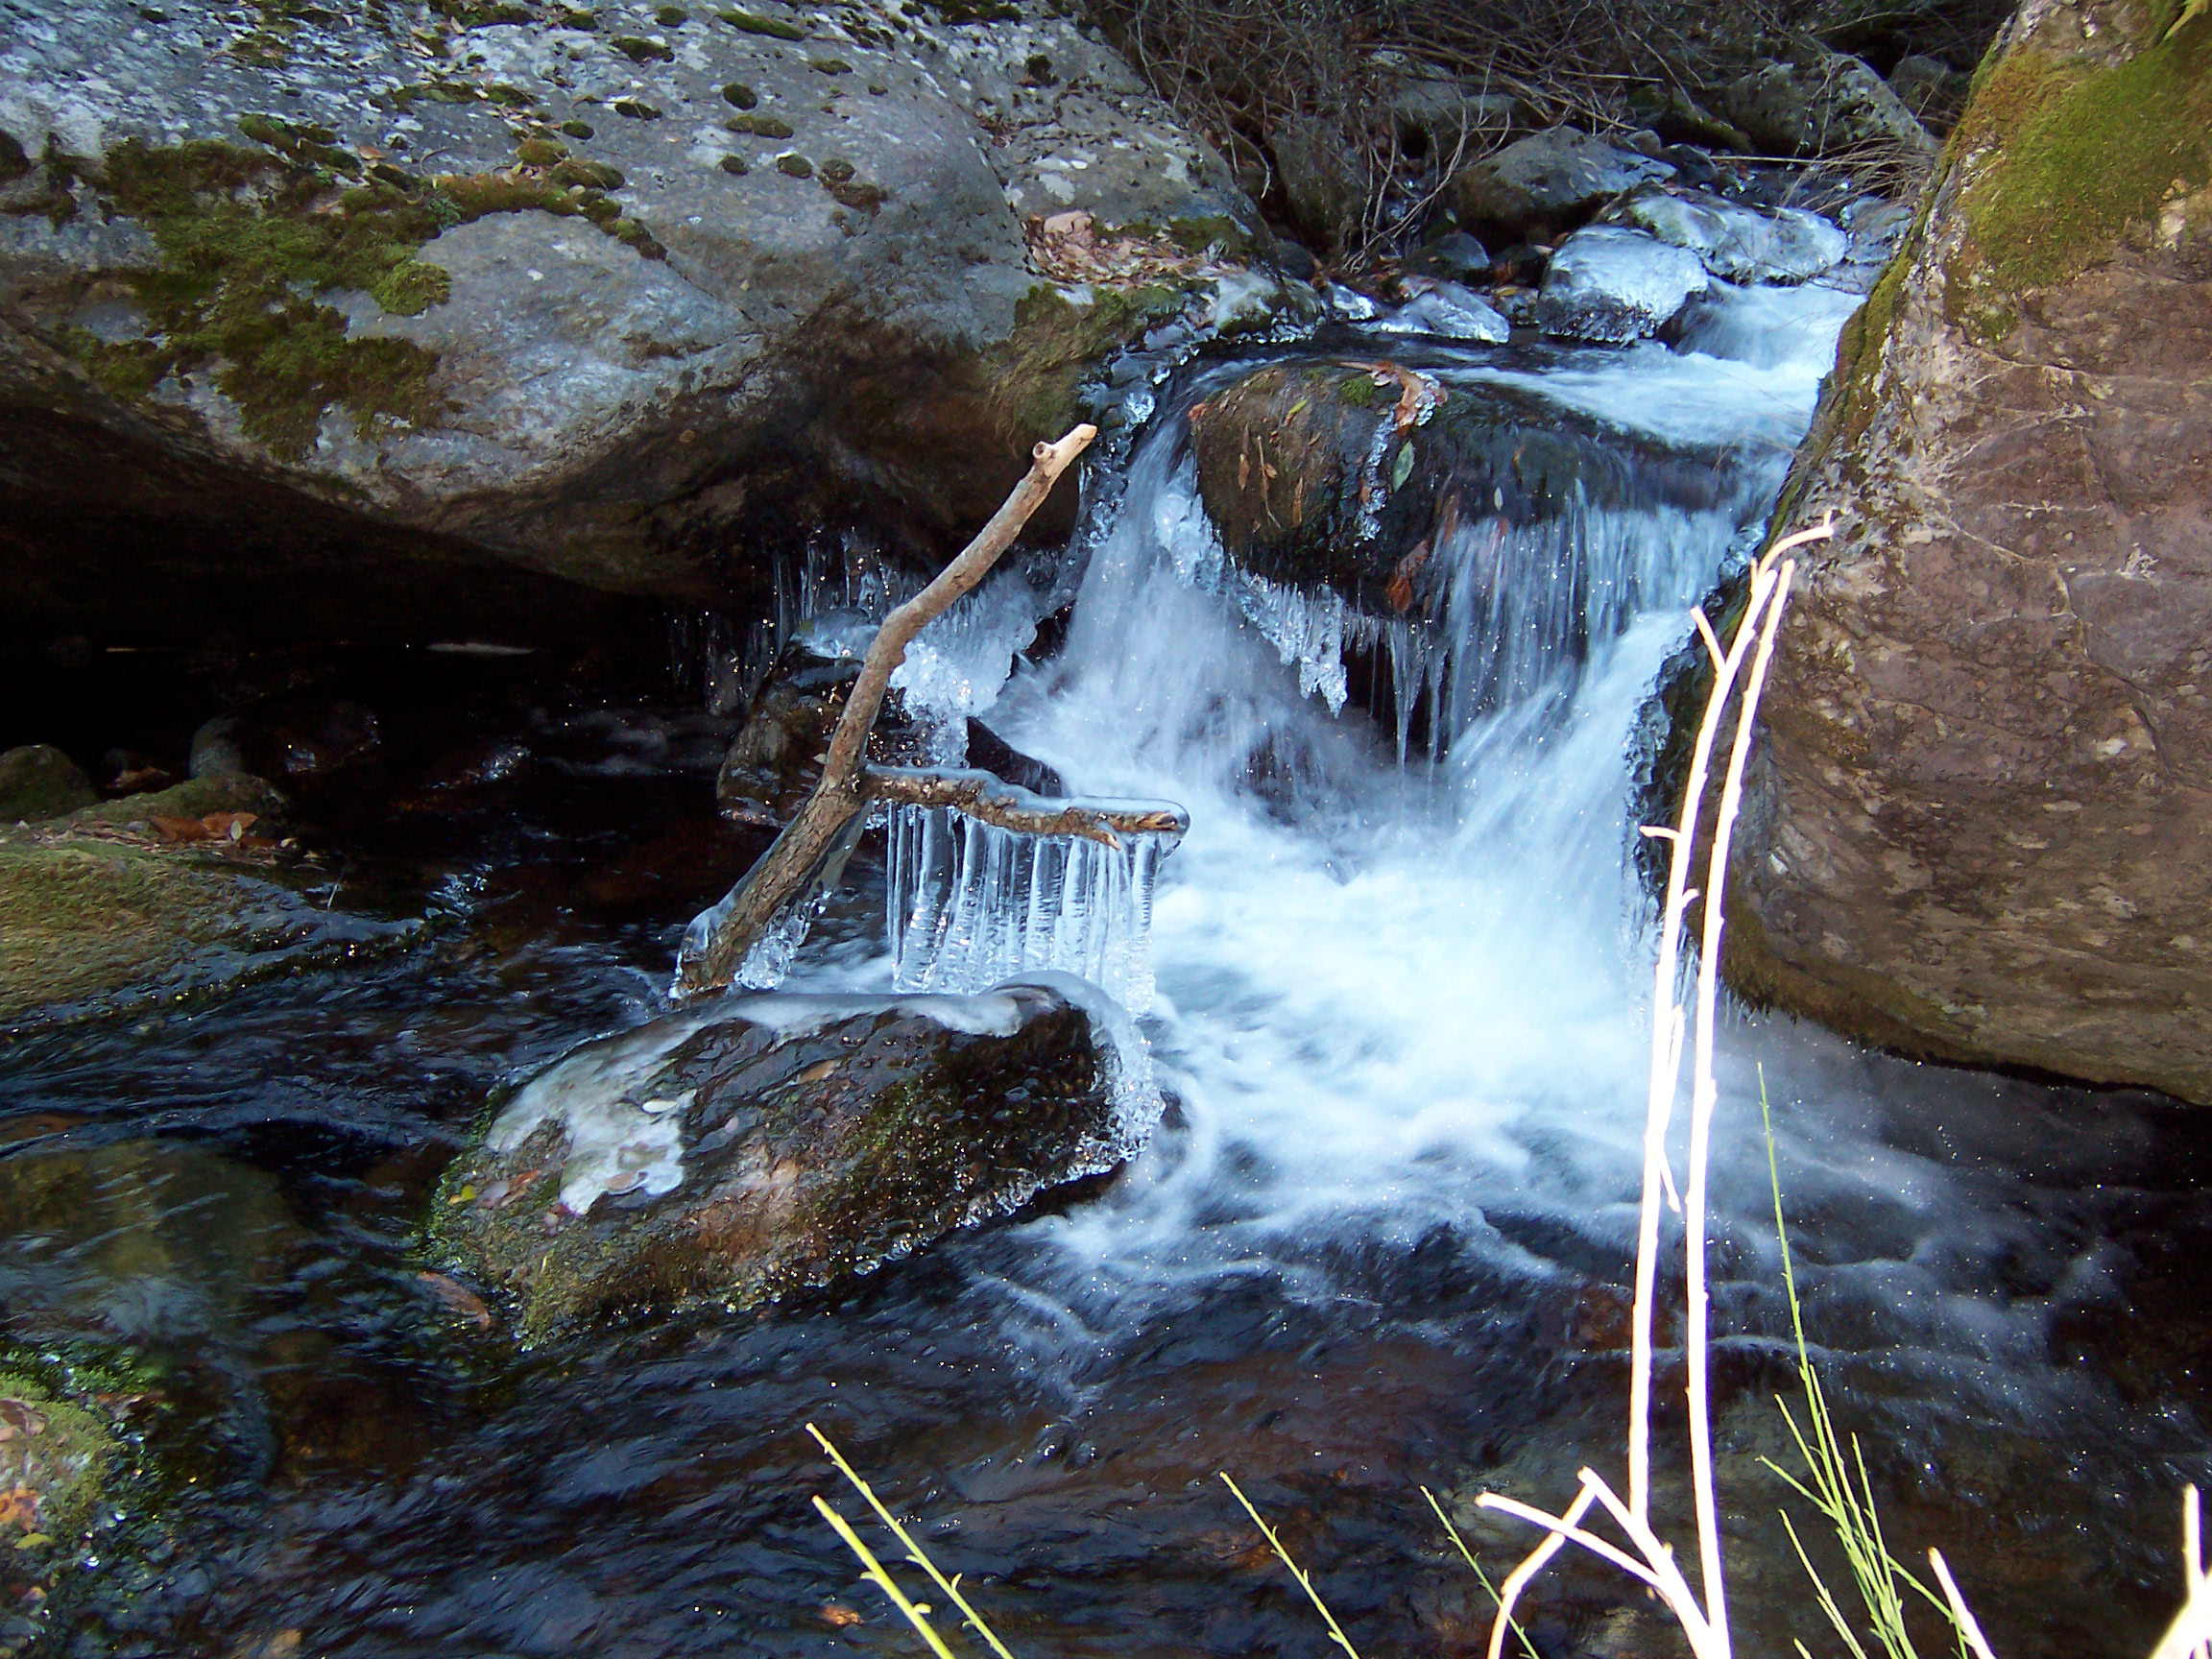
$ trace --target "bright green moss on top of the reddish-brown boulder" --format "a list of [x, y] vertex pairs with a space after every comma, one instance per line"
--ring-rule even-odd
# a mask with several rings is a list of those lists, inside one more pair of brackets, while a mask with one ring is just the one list
[[1960, 126], [1966, 243], [1953, 314], [1982, 338], [2011, 301], [2097, 265], [2181, 190], [2212, 181], [2212, 15], [2112, 64], [2002, 55]]

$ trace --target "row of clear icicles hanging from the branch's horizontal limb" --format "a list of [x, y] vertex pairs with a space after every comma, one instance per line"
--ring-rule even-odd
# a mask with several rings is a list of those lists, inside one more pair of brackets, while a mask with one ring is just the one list
[[1152, 887], [1175, 834], [1115, 847], [1033, 836], [951, 807], [891, 807], [887, 927], [900, 991], [984, 991], [1053, 969], [1121, 1006], [1152, 1002]]

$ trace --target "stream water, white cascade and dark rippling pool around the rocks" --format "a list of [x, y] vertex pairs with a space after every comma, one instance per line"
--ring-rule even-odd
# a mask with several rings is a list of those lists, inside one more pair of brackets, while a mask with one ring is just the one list
[[[436, 947], [0, 1051], [0, 1170], [91, 1159], [175, 1197], [135, 1261], [108, 1232], [60, 1261], [0, 1248], [11, 1329], [64, 1334], [97, 1303], [164, 1356], [153, 1387], [208, 1444], [155, 1559], [108, 1568], [62, 1646], [911, 1652], [807, 1511], [834, 1486], [801, 1433], [818, 1420], [1035, 1659], [1325, 1652], [1221, 1469], [1365, 1652], [1480, 1652], [1486, 1597], [1418, 1486], [1464, 1517], [1482, 1484], [1557, 1504], [1579, 1462], [1619, 1462], [1648, 699], [1763, 520], [1845, 310], [1763, 292], [1677, 347], [1418, 358], [1451, 396], [1511, 387], [1699, 458], [1697, 489], [1593, 491], [1544, 524], [1506, 522], [1500, 489], [1438, 549], [1433, 626], [1239, 573], [1179, 411], [1248, 365], [1172, 385], [1088, 482], [1064, 646], [1022, 661], [1064, 595], [995, 584], [909, 697], [989, 712], [1075, 792], [1177, 801], [1188, 836], [1071, 856], [902, 814], [891, 940], [885, 898], [847, 894], [787, 978], [1088, 967], [1148, 1004], [1168, 1119], [1110, 1183], [854, 1294], [515, 1354], [418, 1279], [409, 1228], [476, 1104], [648, 1018], [737, 856], [613, 765], [571, 768], [595, 807], [507, 803], [520, 832], [478, 823], [495, 845], [442, 852], [465, 874], [434, 889], [453, 918]], [[807, 606], [783, 604], [796, 626]], [[637, 852], [646, 821], [668, 827]], [[595, 889], [617, 849], [637, 880]], [[2174, 1493], [2205, 1473], [2212, 1137], [2154, 1099], [1909, 1066], [1778, 1020], [1732, 1020], [1725, 1046], [1745, 1650], [1827, 1646], [1759, 1464], [1785, 1455], [1772, 1396], [1794, 1376], [1763, 1079], [1807, 1332], [1893, 1540], [1942, 1544], [2008, 1655], [2141, 1652]], [[1473, 1540], [1493, 1573], [1526, 1542]], [[1630, 1588], [1564, 1564], [1544, 1652], [1672, 1650]]]

